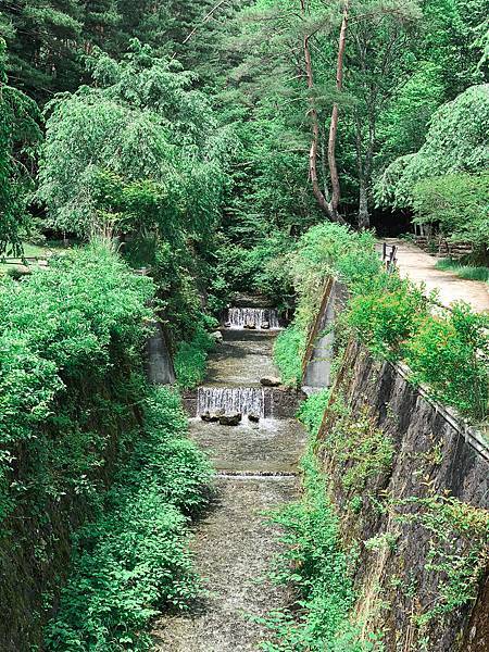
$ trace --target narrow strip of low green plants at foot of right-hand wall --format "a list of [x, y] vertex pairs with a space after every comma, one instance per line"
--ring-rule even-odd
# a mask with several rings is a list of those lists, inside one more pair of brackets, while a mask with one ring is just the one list
[[350, 625], [354, 604], [352, 560], [341, 548], [338, 519], [327, 497], [324, 476], [310, 452], [302, 461], [304, 496], [274, 516], [284, 528], [286, 548], [276, 560], [273, 578], [292, 585], [298, 599], [290, 609], [273, 612], [264, 624], [273, 639], [267, 652], [363, 652], [379, 650], [374, 639], [362, 642]]

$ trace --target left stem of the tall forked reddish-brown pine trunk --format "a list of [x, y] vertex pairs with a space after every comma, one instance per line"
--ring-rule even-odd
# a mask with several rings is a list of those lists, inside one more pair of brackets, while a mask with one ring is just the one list
[[[305, 0], [301, 0], [301, 9], [302, 9], [302, 13], [305, 15]], [[321, 189], [319, 181], [317, 178], [317, 150], [319, 147], [319, 116], [317, 115], [317, 109], [316, 109], [314, 96], [313, 96], [314, 74], [313, 74], [313, 67], [312, 67], [311, 49], [309, 46], [309, 40], [310, 40], [310, 36], [305, 35], [304, 41], [303, 41], [303, 48], [304, 48], [304, 60], [305, 60], [305, 76], [308, 79], [308, 88], [310, 90], [309, 114], [311, 116], [311, 122], [312, 122], [312, 141], [311, 141], [311, 149], [309, 152], [309, 176], [311, 178], [314, 197], [316, 198], [317, 203], [319, 204], [319, 208], [326, 213], [326, 215], [333, 222], [340, 222], [341, 224], [344, 224], [344, 220], [338, 213], [338, 203], [339, 203], [338, 175], [336, 175], [336, 183], [337, 183], [337, 188], [338, 188], [338, 201], [337, 201], [337, 205], [335, 209], [333, 208], [333, 200], [329, 202], [326, 199], [325, 193]], [[343, 50], [344, 50], [344, 47], [343, 47]], [[334, 156], [335, 156], [335, 154], [334, 154]], [[329, 163], [329, 171], [331, 171], [329, 150], [328, 150], [328, 163]], [[335, 164], [335, 170], [336, 170], [336, 164]], [[331, 175], [331, 172], [329, 172], [329, 174]], [[333, 180], [333, 176], [331, 176], [331, 186], [333, 186], [333, 184], [334, 184], [334, 180]]]

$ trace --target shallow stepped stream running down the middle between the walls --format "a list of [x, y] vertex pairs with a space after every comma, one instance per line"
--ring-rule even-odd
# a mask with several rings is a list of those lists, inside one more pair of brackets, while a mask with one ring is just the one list
[[[265, 514], [298, 496], [305, 434], [291, 416], [301, 397], [261, 387], [261, 377], [277, 375], [272, 361], [276, 330], [246, 328], [240, 315], [233, 315], [233, 327], [223, 329], [223, 341], [210, 360], [204, 394], [196, 392], [186, 400], [190, 435], [217, 472], [216, 494], [196, 524], [191, 544], [209, 594], [190, 613], [165, 616], [156, 624], [158, 650], [258, 650], [267, 632], [255, 618], [289, 600], [286, 589], [267, 579], [280, 544], [279, 531]], [[274, 316], [268, 312], [260, 318], [269, 323]], [[234, 426], [202, 421], [202, 411], [210, 408], [240, 409], [242, 418]], [[249, 413], [258, 421], [250, 421]]]

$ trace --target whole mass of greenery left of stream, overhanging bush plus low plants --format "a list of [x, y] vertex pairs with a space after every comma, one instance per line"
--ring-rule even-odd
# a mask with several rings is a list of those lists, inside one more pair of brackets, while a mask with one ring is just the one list
[[[150, 391], [141, 373], [154, 285], [100, 242], [1, 289], [2, 603], [14, 610], [24, 590], [42, 590], [49, 609], [75, 531], [48, 649], [149, 649], [139, 631], [158, 609], [198, 591], [186, 532], [211, 478], [179, 397]], [[8, 554], [17, 544], [22, 557]], [[23, 616], [33, 644], [46, 613]]]

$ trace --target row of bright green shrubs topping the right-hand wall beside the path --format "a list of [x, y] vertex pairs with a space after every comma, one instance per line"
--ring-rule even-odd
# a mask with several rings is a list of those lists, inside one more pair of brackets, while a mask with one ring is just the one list
[[[300, 361], [327, 276], [346, 283], [342, 325], [376, 355], [404, 360], [412, 379], [476, 421], [489, 413], [487, 315], [466, 304], [438, 310], [418, 287], [380, 266], [369, 234], [313, 227], [299, 241], [292, 275], [300, 294], [293, 324], [277, 340], [275, 360], [286, 383], [301, 380]], [[344, 331], [343, 331], [344, 336]]]

